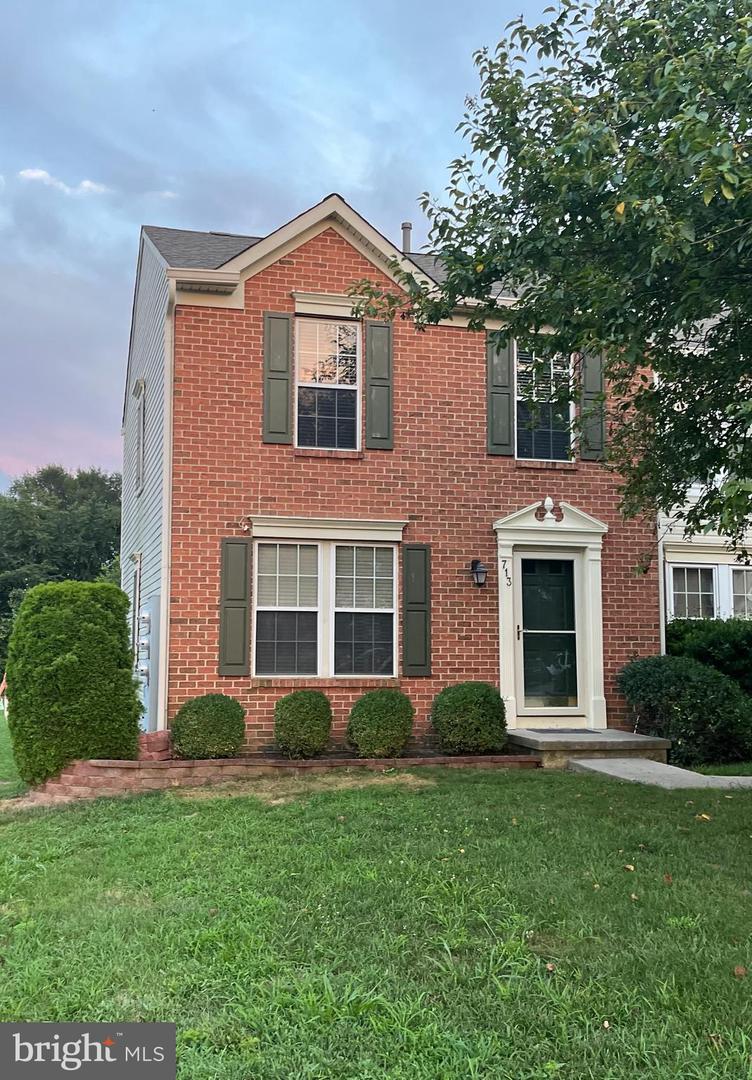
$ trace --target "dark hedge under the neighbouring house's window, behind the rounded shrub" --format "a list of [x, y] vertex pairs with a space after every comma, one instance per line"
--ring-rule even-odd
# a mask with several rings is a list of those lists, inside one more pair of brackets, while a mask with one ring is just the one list
[[674, 619], [666, 647], [674, 657], [710, 664], [752, 694], [752, 619]]

